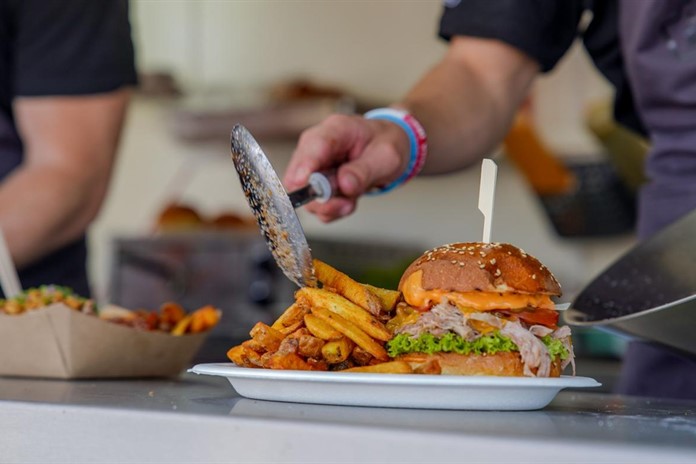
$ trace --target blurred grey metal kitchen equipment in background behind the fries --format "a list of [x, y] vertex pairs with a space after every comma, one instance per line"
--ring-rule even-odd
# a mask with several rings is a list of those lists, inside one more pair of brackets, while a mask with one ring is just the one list
[[114, 241], [110, 301], [129, 309], [158, 309], [175, 301], [191, 311], [222, 310], [197, 361], [225, 361], [258, 321], [271, 323], [293, 301], [258, 232], [181, 232]]

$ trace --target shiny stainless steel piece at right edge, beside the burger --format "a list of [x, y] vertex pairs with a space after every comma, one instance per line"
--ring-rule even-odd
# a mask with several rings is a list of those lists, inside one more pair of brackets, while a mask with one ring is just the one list
[[564, 317], [696, 354], [696, 210], [617, 260]]

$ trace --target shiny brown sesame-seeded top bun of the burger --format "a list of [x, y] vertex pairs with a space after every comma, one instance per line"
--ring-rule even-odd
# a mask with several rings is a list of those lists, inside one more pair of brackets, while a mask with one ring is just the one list
[[422, 272], [424, 290], [561, 295], [561, 286], [541, 262], [507, 243], [452, 243], [433, 248], [406, 269], [399, 282]]

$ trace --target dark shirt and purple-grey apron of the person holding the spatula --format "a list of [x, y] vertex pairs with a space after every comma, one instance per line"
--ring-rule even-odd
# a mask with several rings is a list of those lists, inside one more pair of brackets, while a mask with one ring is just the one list
[[[646, 238], [696, 209], [696, 1], [447, 0], [440, 35], [501, 40], [552, 69], [580, 37], [616, 89], [616, 120], [650, 138]], [[583, 13], [592, 13], [588, 25]], [[673, 43], [674, 42], [674, 43]]]

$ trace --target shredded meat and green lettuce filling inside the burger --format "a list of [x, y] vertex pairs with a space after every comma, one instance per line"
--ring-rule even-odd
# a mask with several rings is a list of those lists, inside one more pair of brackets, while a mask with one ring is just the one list
[[494, 311], [464, 313], [446, 301], [421, 314], [416, 321], [396, 328], [388, 348], [391, 356], [416, 351], [462, 354], [518, 351], [526, 376], [548, 377], [551, 362], [557, 357], [561, 359], [561, 368], [571, 364], [575, 374], [568, 326], [554, 330], [504, 319]]

